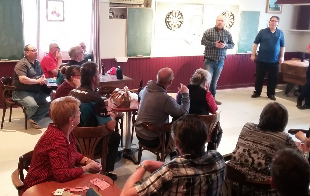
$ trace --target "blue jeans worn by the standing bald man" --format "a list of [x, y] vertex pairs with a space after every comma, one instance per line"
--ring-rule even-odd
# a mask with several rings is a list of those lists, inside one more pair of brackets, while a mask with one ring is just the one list
[[217, 81], [221, 75], [224, 66], [224, 59], [222, 61], [212, 61], [210, 59], [205, 59], [205, 70], [209, 71], [212, 77], [210, 83], [210, 92], [215, 97], [215, 89], [217, 86]]

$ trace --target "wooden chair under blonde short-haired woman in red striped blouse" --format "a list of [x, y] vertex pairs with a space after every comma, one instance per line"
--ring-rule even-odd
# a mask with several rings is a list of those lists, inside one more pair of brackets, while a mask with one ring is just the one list
[[32, 155], [33, 150], [20, 156], [18, 159], [17, 169], [13, 171], [11, 175], [12, 183], [18, 190], [18, 195], [20, 195], [20, 190], [24, 188], [24, 180], [25, 180], [24, 170], [26, 171], [29, 170]]

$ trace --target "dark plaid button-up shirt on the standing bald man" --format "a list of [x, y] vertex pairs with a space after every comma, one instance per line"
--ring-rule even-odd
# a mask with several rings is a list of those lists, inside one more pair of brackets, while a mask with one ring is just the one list
[[[218, 40], [223, 40], [226, 43], [224, 48], [216, 48], [215, 42]], [[227, 49], [232, 49], [235, 46], [235, 43], [232, 41], [232, 35], [228, 30], [221, 30], [219, 33], [216, 27], [206, 30], [201, 39], [201, 45], [206, 46], [205, 48], [205, 58], [221, 61], [226, 58]]]

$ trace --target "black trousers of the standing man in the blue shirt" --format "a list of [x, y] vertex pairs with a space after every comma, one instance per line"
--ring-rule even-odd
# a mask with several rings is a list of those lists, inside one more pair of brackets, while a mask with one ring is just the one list
[[263, 82], [266, 72], [268, 72], [267, 96], [275, 95], [279, 73], [279, 62], [265, 63], [256, 61], [256, 79], [254, 93], [258, 95], [262, 93]]

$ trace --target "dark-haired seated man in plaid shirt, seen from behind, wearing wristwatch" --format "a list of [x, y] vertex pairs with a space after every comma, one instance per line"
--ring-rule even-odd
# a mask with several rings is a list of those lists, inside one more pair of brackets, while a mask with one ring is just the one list
[[[225, 161], [215, 151], [206, 151], [207, 127], [199, 116], [180, 117], [172, 125], [180, 156], [163, 163], [146, 160], [127, 180], [124, 195], [217, 196], [225, 179]], [[151, 173], [143, 179], [145, 172]]]

